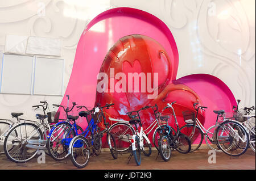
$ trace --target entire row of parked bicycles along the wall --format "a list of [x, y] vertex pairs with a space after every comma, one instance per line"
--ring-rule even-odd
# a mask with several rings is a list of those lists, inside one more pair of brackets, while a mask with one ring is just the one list
[[[43, 108], [43, 114], [36, 114], [36, 119], [40, 122], [20, 118], [23, 113], [11, 113], [16, 121], [0, 119], [0, 154], [5, 153], [13, 162], [30, 161], [39, 150], [47, 150], [47, 154], [56, 161], [69, 157], [73, 165], [82, 168], [88, 164], [91, 156], [101, 153], [102, 137], [106, 134], [106, 142], [114, 159], [118, 158], [118, 154], [128, 151], [128, 163], [134, 157], [137, 165], [141, 165], [141, 152], [146, 156], [151, 155], [152, 144], [148, 136], [152, 131], [152, 142], [164, 161], [170, 160], [174, 149], [183, 154], [199, 149], [204, 138], [210, 149], [223, 151], [231, 156], [242, 155], [249, 145], [255, 152], [255, 120], [250, 121], [255, 117], [251, 115], [255, 107], [238, 110], [240, 100], [237, 107], [233, 107], [231, 116], [227, 116], [224, 110], [213, 111], [217, 114], [216, 123], [208, 129], [197, 118], [199, 110], [205, 111], [207, 108], [199, 106], [199, 103], [193, 103], [195, 111], [183, 112], [186, 124], [181, 128], [172, 107], [176, 102], [167, 103], [162, 111], [155, 105], [127, 112], [129, 121], [109, 116], [111, 123], [116, 122], [114, 124], [109, 124], [106, 120], [104, 110], [113, 104], [97, 106], [91, 110], [85, 106], [76, 106], [75, 102], [70, 108], [69, 103], [67, 108], [53, 104], [54, 107], [63, 108], [65, 118], [61, 119], [60, 110], [46, 113], [48, 103], [40, 103], [42, 104], [32, 106], [35, 110]], [[85, 130], [76, 123], [79, 116], [69, 115], [75, 106], [78, 110], [85, 109], [79, 112], [79, 116], [88, 123]], [[150, 111], [148, 109], [152, 110], [155, 120], [148, 128], [143, 129], [139, 113], [143, 110]], [[169, 125], [171, 117], [174, 117], [174, 128]], [[196, 146], [191, 146], [195, 143]]]

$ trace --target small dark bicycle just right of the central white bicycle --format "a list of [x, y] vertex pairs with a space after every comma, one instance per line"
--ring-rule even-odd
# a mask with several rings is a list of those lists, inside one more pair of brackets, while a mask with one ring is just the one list
[[[169, 161], [171, 158], [171, 151], [176, 149], [179, 153], [187, 154], [191, 150], [191, 140], [188, 136], [180, 132], [179, 123], [177, 122], [174, 108], [172, 107], [175, 102], [167, 103], [167, 106], [163, 108], [164, 110], [168, 110], [171, 114], [174, 115], [176, 132], [175, 129], [171, 128], [170, 125], [167, 124], [162, 127], [162, 134], [160, 134], [159, 139], [159, 152], [164, 161]], [[170, 111], [171, 108], [171, 111]], [[169, 119], [169, 116], [162, 116], [160, 114], [159, 119]]]

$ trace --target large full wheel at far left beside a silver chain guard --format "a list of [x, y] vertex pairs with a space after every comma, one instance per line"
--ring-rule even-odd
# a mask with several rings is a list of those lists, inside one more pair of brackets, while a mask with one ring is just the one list
[[[18, 136], [16, 134], [18, 133]], [[30, 140], [42, 140], [43, 133], [33, 123], [20, 123], [13, 127], [3, 143], [6, 157], [15, 163], [25, 163], [34, 158], [39, 149], [30, 148]], [[10, 146], [13, 147], [10, 149]]]

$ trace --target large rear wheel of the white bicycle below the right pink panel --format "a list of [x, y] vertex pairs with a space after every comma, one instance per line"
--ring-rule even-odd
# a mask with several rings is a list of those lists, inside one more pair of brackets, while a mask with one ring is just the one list
[[220, 149], [233, 157], [245, 153], [249, 146], [249, 136], [240, 123], [225, 121], [216, 130], [217, 144]]

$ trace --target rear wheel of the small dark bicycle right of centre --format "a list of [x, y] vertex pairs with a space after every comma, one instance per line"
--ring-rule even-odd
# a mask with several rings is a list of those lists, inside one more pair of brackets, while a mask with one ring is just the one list
[[[189, 151], [191, 150], [190, 138], [187, 135], [180, 132], [177, 141], [179, 145], [176, 146], [175, 149], [182, 154], [189, 153]], [[181, 148], [181, 146], [183, 147]]]

